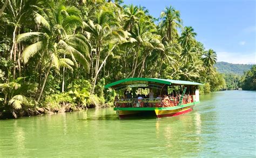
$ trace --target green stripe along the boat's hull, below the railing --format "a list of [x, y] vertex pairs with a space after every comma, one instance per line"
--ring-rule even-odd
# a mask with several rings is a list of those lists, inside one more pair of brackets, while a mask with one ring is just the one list
[[173, 110], [173, 109], [179, 109], [184, 108], [191, 105], [199, 104], [200, 101], [196, 102], [190, 102], [188, 104], [183, 104], [180, 106], [172, 106], [172, 107], [114, 107], [114, 111], [154, 111], [155, 109], [159, 110]]

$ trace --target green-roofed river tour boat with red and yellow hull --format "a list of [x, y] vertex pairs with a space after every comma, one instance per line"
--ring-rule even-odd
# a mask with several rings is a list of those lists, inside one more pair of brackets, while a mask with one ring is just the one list
[[199, 104], [199, 85], [192, 81], [127, 78], [105, 85], [117, 92], [114, 111], [119, 118], [154, 115], [177, 116], [192, 111]]

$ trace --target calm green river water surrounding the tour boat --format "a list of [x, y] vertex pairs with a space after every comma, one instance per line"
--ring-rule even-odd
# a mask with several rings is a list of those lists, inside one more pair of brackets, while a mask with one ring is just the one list
[[119, 120], [112, 108], [0, 120], [0, 157], [255, 157], [256, 92], [200, 96], [190, 113]]

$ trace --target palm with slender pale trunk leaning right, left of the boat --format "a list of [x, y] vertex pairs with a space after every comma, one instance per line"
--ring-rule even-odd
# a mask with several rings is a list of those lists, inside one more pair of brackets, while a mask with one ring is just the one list
[[[96, 13], [95, 22], [89, 20], [84, 24], [85, 35], [90, 37], [90, 42], [94, 47], [96, 53], [96, 62], [94, 68], [93, 87], [91, 94], [94, 91], [98, 74], [105, 64], [107, 58], [112, 53], [113, 49], [118, 43], [126, 41], [128, 32], [124, 31], [117, 22], [117, 18], [114, 16], [111, 10], [99, 10]], [[102, 51], [106, 49], [107, 54], [100, 65], [100, 56]], [[93, 73], [92, 73], [93, 75]]]

